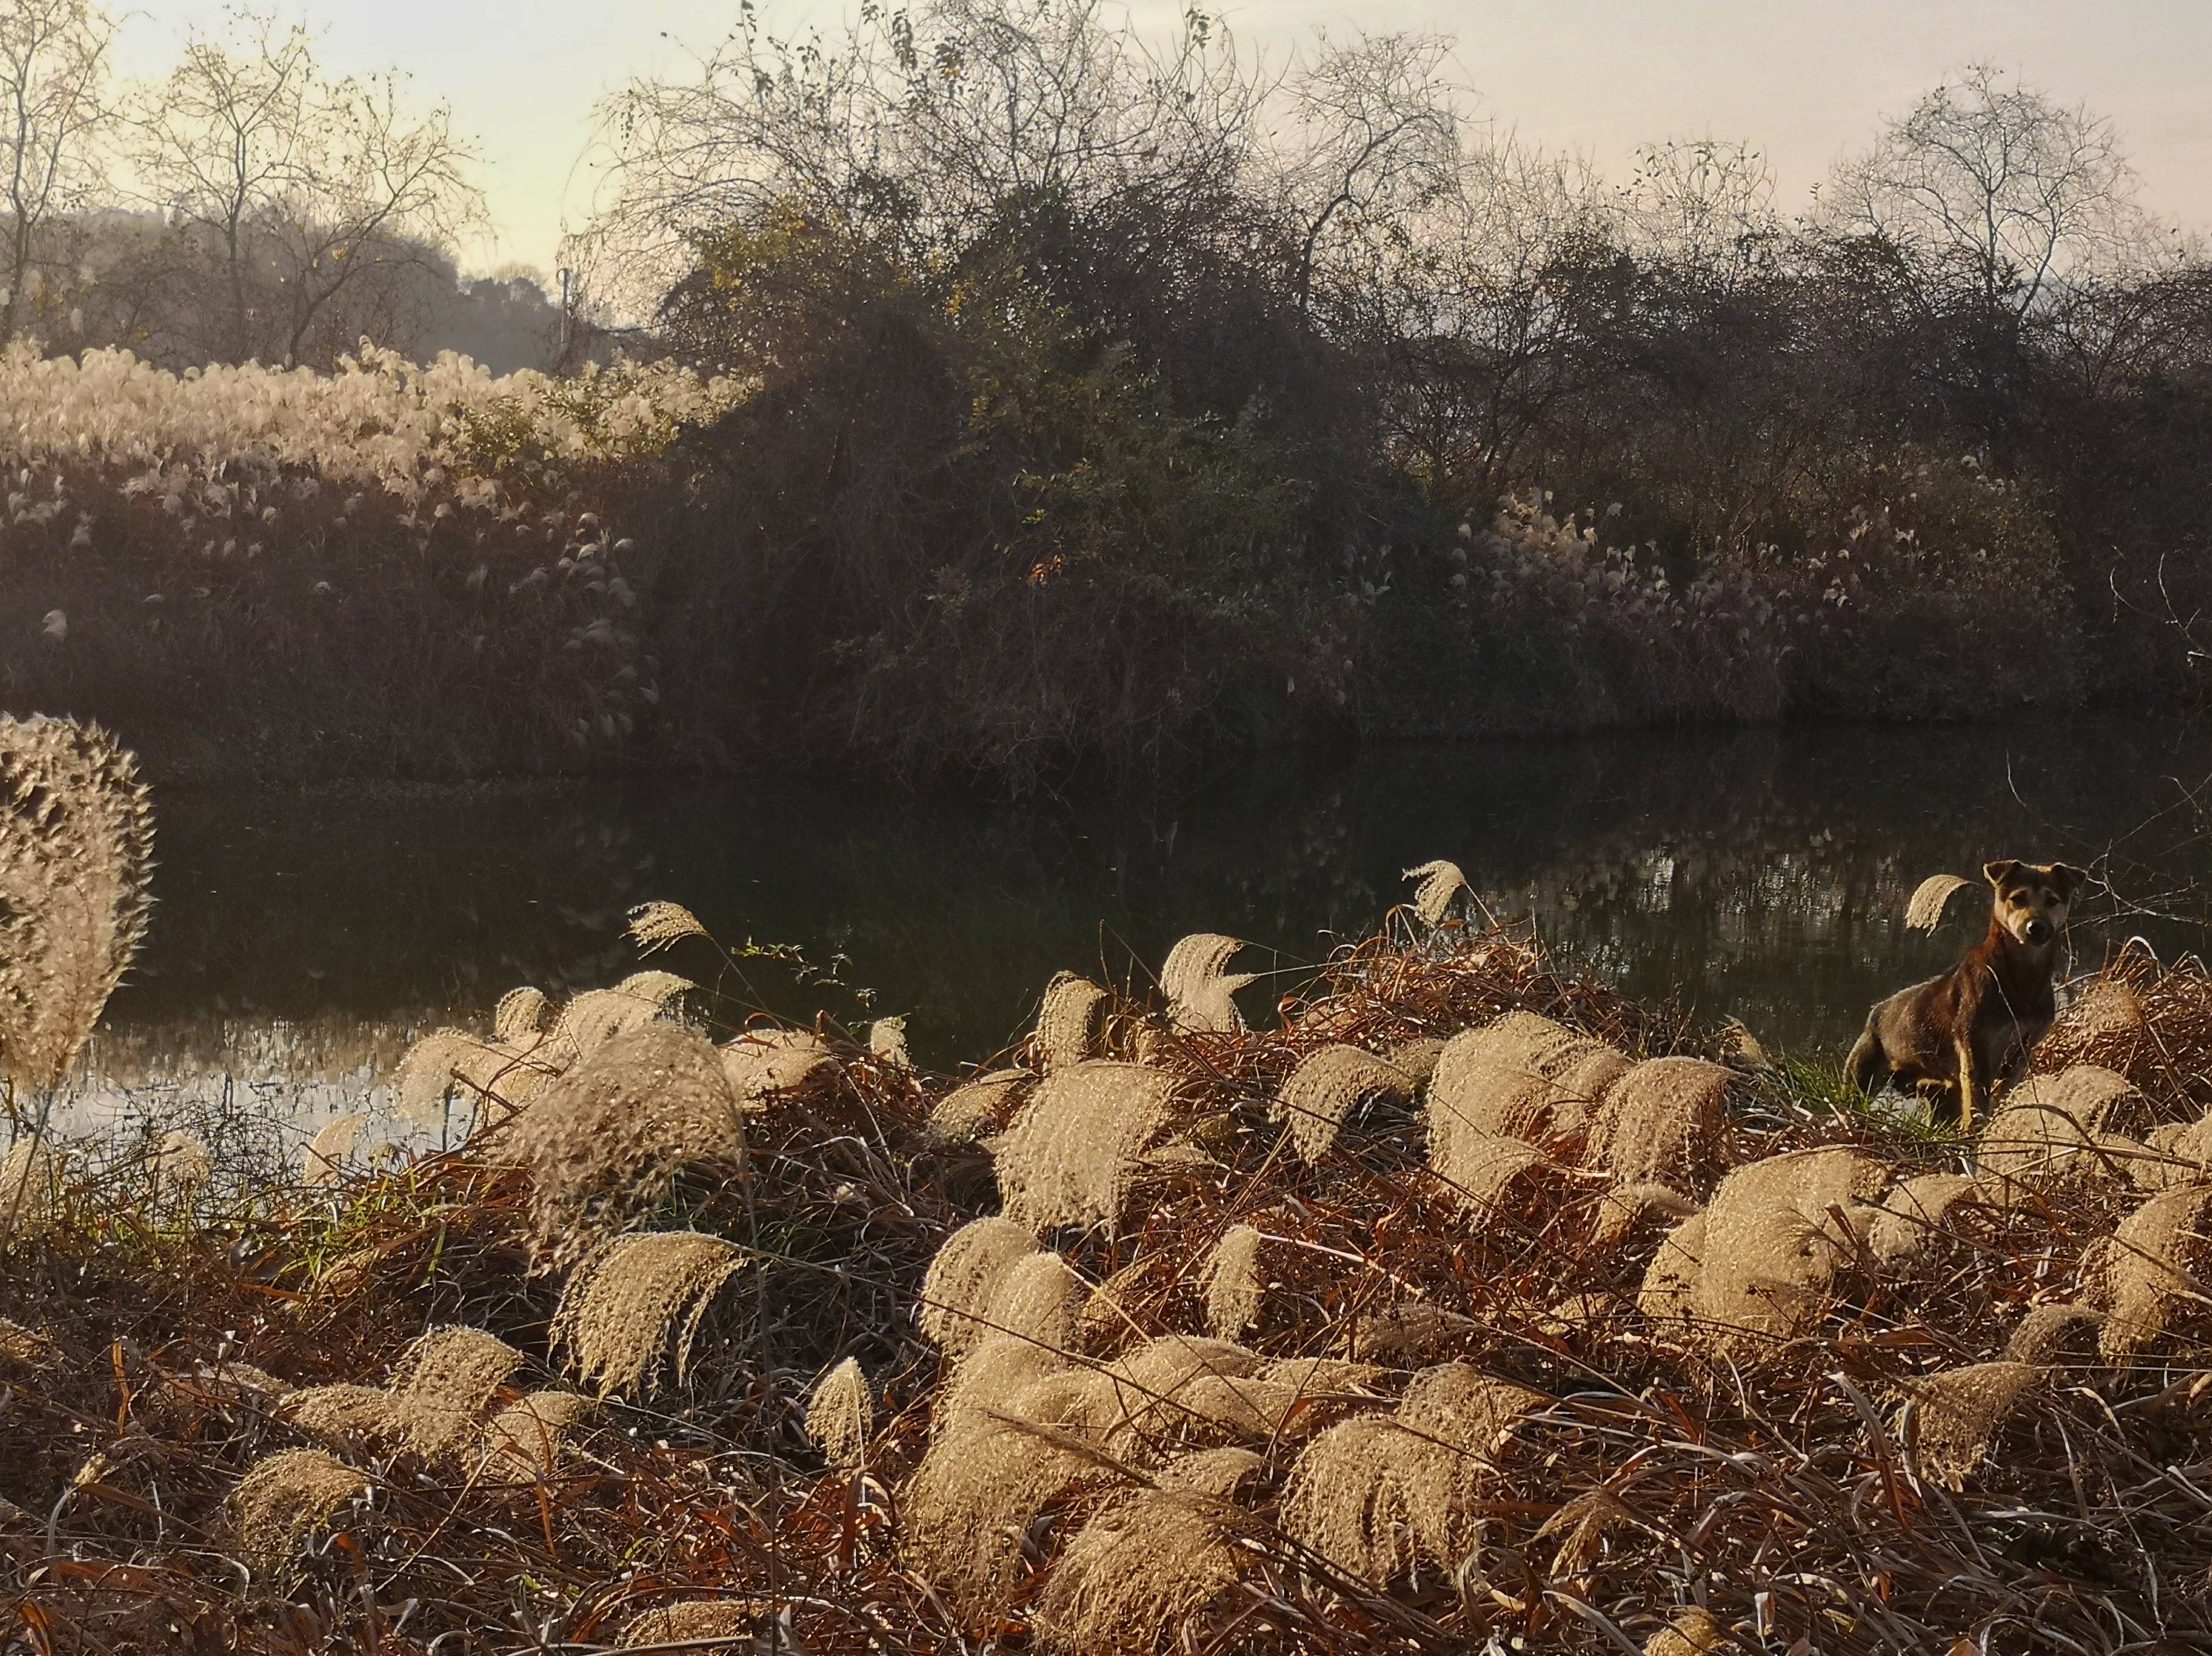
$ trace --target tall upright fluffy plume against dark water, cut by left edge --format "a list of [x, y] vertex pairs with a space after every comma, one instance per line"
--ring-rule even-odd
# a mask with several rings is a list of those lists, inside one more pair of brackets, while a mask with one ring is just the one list
[[0, 1077], [53, 1088], [146, 935], [153, 807], [97, 725], [0, 716]]

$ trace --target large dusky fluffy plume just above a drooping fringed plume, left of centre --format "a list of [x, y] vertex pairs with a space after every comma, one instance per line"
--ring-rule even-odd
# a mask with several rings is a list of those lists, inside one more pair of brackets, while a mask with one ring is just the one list
[[677, 1024], [608, 1039], [504, 1132], [531, 1174], [531, 1216], [555, 1260], [628, 1225], [679, 1170], [745, 1159], [743, 1110], [721, 1055]]

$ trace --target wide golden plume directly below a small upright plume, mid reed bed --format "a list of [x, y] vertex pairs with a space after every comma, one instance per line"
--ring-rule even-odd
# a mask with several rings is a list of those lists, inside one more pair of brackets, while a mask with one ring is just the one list
[[1088, 1059], [1037, 1083], [998, 1141], [1006, 1216], [1035, 1231], [1104, 1227], [1121, 1216], [1139, 1156], [1175, 1112], [1175, 1077]]

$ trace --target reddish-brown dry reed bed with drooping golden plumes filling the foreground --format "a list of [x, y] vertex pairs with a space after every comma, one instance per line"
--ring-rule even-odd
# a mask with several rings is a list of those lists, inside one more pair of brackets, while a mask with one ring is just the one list
[[[699, 1081], [608, 1170], [615, 1223], [737, 1265], [688, 1377], [604, 1404], [553, 1342], [604, 1256], [549, 1236], [533, 1103], [230, 1225], [77, 1203], [0, 1289], [18, 1618], [396, 1652], [776, 1623], [810, 1652], [2101, 1652], [2212, 1621], [2203, 1203], [2146, 1150], [2201, 1114], [2201, 971], [2121, 957], [2048, 1048], [2135, 1083], [2132, 1152], [1969, 1178], [1520, 933], [1394, 915], [1265, 1030], [1230, 957], [1192, 948], [1170, 1004], [1055, 984], [964, 1094], [887, 1035], [743, 1044], [723, 1075], [772, 1048], [781, 1081], [741, 1150], [670, 1139]], [[993, 1176], [1022, 1223], [973, 1223]], [[383, 1419], [451, 1324], [518, 1366], [394, 1442], [223, 1369]]]

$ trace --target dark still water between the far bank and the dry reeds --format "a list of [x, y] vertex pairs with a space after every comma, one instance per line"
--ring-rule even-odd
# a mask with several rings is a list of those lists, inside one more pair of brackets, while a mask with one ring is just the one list
[[[2108, 887], [2075, 929], [2079, 964], [2135, 933], [2203, 948], [2208, 776], [2203, 730], [2101, 721], [1387, 750], [1252, 763], [1194, 794], [1024, 803], [776, 778], [170, 789], [153, 933], [95, 1063], [343, 1090], [513, 984], [615, 982], [637, 964], [626, 906], [668, 898], [726, 942], [836, 962], [874, 1013], [909, 1017], [925, 1063], [951, 1066], [1018, 1037], [1053, 971], [1141, 975], [1186, 931], [1248, 937], [1294, 982], [1429, 858], [1632, 993], [1832, 1050], [1980, 926], [1960, 898], [1942, 935], [1905, 931], [1927, 873], [2081, 862]], [[684, 948], [699, 944], [655, 964], [714, 968]], [[869, 1015], [772, 964], [757, 986], [790, 1015]], [[1248, 1010], [1267, 999], [1250, 991]]]

